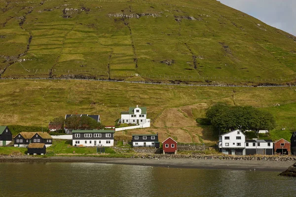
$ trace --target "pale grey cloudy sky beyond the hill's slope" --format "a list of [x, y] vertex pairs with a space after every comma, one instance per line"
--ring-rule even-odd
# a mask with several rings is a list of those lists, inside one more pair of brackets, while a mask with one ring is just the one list
[[296, 35], [296, 0], [220, 0], [264, 23]]

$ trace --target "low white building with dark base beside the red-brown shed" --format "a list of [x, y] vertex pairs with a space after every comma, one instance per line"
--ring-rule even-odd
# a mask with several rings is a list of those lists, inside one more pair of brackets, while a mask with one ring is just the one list
[[246, 140], [246, 155], [273, 155], [272, 140], [251, 139]]

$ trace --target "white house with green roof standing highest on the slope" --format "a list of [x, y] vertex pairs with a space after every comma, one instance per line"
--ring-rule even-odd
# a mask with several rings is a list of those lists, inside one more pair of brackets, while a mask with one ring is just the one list
[[130, 107], [129, 111], [121, 112], [119, 123], [140, 125], [141, 128], [150, 127], [150, 119], [147, 119], [147, 107]]

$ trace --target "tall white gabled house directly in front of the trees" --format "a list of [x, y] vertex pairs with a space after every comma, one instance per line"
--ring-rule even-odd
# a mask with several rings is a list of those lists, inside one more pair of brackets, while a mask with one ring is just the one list
[[233, 130], [219, 135], [218, 147], [226, 155], [246, 155], [246, 135], [240, 130]]

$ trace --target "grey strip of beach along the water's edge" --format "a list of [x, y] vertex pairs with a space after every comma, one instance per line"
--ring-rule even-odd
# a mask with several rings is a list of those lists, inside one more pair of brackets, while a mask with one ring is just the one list
[[155, 167], [231, 169], [258, 171], [285, 171], [295, 162], [254, 161], [254, 160], [202, 160], [202, 159], [142, 159], [142, 158], [102, 158], [102, 157], [0, 157], [0, 163], [98, 163], [147, 165]]

